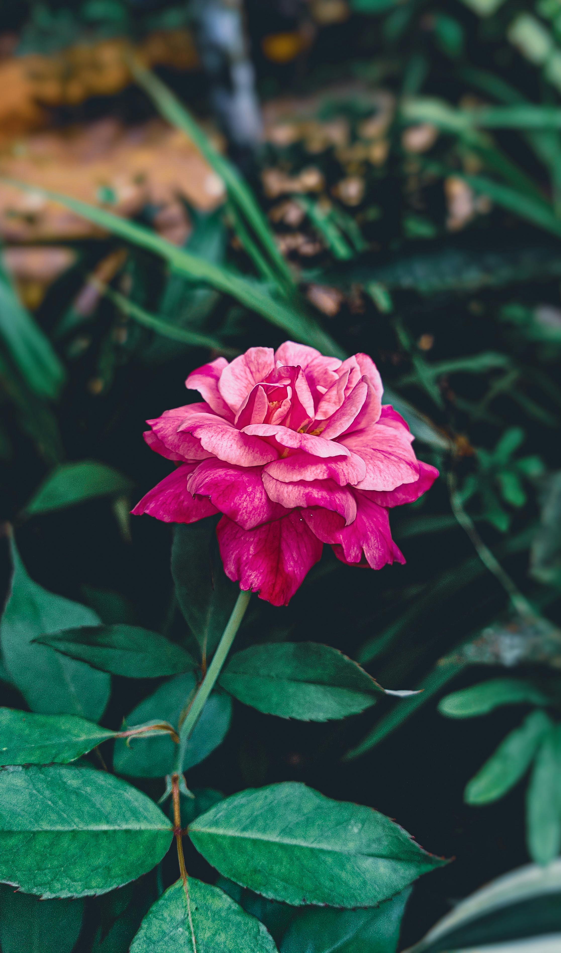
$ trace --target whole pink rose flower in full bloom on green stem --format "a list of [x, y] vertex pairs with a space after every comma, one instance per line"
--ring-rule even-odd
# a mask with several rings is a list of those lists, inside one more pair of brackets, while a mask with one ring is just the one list
[[405, 562], [388, 508], [420, 497], [438, 471], [382, 404], [368, 355], [341, 361], [286, 341], [218, 357], [186, 386], [204, 401], [165, 411], [145, 434], [177, 469], [132, 513], [175, 523], [222, 513], [226, 574], [273, 605], [288, 604], [324, 543], [348, 565]]

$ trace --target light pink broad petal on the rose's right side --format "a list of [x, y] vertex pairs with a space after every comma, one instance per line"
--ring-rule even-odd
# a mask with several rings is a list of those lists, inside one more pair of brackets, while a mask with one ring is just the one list
[[340, 442], [366, 464], [366, 476], [354, 485], [359, 490], [394, 490], [402, 483], [414, 483], [419, 462], [408, 436], [403, 429], [382, 423], [342, 436]]

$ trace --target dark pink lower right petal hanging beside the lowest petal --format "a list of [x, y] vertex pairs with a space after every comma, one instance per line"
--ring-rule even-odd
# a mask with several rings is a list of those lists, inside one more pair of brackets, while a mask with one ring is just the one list
[[[333, 534], [332, 542], [343, 548], [346, 562], [361, 562], [364, 556], [372, 569], [381, 569], [388, 562], [405, 562], [391, 538], [388, 510], [361, 493], [356, 494], [356, 519], [350, 526]], [[337, 554], [335, 554], [337, 555]]]

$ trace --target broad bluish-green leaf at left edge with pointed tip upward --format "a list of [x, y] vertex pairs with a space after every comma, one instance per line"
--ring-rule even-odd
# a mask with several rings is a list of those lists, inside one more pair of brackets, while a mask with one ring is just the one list
[[11, 591], [0, 624], [2, 655], [10, 678], [32, 711], [99, 720], [110, 696], [109, 675], [33, 642], [37, 636], [61, 629], [98, 625], [99, 617], [87, 606], [34, 582], [13, 539], [11, 558]]

